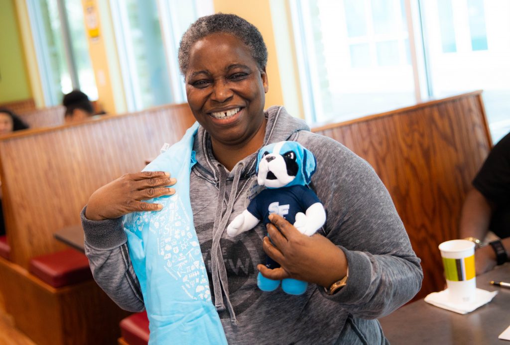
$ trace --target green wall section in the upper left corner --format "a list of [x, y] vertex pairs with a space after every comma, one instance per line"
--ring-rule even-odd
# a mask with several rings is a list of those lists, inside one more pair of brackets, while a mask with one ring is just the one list
[[13, 0], [0, 1], [0, 102], [32, 98]]

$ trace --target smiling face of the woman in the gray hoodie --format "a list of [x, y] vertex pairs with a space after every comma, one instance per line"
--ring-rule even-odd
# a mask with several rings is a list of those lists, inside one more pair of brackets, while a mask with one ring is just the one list
[[[191, 48], [186, 94], [196, 120], [214, 141], [242, 147], [264, 131], [267, 75], [238, 38], [212, 34]], [[262, 144], [262, 143], [261, 143]]]

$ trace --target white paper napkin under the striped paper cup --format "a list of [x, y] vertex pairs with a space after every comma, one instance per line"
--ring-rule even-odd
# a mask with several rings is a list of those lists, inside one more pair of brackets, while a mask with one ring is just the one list
[[482, 289], [476, 289], [475, 298], [471, 302], [453, 303], [448, 296], [448, 289], [441, 292], [433, 292], [425, 297], [425, 302], [437, 307], [458, 312], [459, 314], [467, 314], [492, 301], [497, 291], [489, 292]]

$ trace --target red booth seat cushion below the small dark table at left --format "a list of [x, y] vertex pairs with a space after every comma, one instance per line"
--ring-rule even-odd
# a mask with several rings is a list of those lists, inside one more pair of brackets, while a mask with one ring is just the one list
[[87, 256], [74, 249], [33, 257], [29, 271], [53, 287], [76, 284], [92, 278]]

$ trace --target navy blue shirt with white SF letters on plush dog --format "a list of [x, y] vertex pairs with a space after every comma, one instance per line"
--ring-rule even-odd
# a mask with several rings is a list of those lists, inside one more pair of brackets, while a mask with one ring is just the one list
[[272, 213], [294, 224], [296, 213], [306, 213], [307, 209], [315, 203], [320, 203], [319, 198], [313, 190], [305, 186], [264, 189], [251, 200], [248, 212], [262, 219], [264, 224], [269, 223], [269, 215]]

